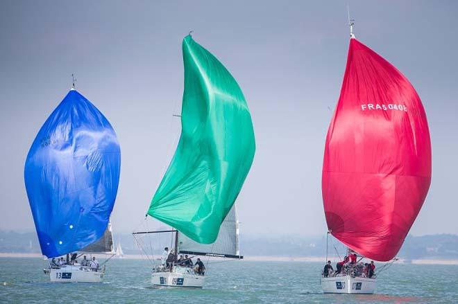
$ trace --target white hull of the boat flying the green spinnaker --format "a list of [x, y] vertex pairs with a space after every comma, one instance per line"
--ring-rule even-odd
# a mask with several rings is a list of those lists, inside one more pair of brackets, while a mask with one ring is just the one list
[[173, 271], [153, 272], [151, 284], [154, 287], [197, 287], [202, 288], [205, 276], [194, 274], [192, 269], [174, 267]]

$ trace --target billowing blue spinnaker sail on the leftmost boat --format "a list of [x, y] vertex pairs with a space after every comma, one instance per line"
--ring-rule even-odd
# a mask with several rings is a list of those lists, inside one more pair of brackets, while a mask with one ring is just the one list
[[120, 166], [112, 126], [72, 89], [38, 132], [24, 169], [44, 256], [78, 251], [103, 236], [116, 199]]

